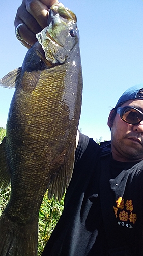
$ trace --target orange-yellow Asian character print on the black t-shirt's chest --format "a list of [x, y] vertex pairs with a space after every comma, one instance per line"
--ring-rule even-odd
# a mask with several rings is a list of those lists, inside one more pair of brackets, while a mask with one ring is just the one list
[[113, 210], [115, 212], [116, 218], [119, 218], [120, 221], [118, 221], [119, 225], [126, 226], [126, 227], [132, 227], [131, 224], [126, 224], [126, 222], [130, 222], [135, 224], [137, 220], [136, 214], [134, 214], [133, 211], [133, 203], [132, 200], [127, 200], [125, 202], [124, 198], [119, 197], [118, 200], [116, 200], [116, 207], [113, 206]]

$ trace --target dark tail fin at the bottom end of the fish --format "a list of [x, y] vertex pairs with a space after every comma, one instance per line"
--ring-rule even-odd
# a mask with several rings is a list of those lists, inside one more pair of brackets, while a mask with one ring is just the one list
[[0, 218], [0, 256], [37, 256], [38, 220], [17, 224], [3, 212]]

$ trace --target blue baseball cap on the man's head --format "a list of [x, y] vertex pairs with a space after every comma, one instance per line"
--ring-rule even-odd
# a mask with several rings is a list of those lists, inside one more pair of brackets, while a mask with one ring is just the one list
[[140, 89], [143, 89], [143, 84], [138, 84], [137, 86], [128, 88], [119, 98], [116, 106], [119, 106], [131, 99], [143, 99], [143, 93], [139, 93]]

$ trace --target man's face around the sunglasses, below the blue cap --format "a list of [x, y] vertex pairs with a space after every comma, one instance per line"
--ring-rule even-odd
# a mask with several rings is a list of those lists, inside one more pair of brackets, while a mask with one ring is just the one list
[[[134, 106], [143, 112], [143, 100], [129, 100], [122, 106]], [[143, 159], [143, 121], [137, 125], [124, 122], [117, 113], [111, 125], [111, 147], [113, 159], [121, 162], [132, 162]]]

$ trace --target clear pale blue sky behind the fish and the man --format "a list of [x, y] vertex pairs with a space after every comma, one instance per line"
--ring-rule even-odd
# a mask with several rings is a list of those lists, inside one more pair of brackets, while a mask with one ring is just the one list
[[[79, 128], [96, 140], [110, 139], [107, 118], [121, 94], [143, 83], [143, 1], [67, 0], [77, 15], [83, 72]], [[0, 16], [0, 78], [22, 65], [27, 51], [15, 37], [20, 0], [3, 1]], [[6, 127], [13, 89], [0, 87], [0, 127]]]

